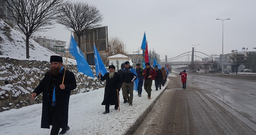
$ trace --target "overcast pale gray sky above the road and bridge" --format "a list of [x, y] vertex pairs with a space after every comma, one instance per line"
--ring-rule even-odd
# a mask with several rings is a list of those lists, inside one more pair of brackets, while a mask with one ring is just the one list
[[[160, 59], [176, 57], [192, 51], [222, 53], [222, 21], [224, 21], [224, 54], [242, 47], [256, 47], [256, 0], [84, 0], [96, 5], [104, 15], [102, 26], [108, 37], [119, 37], [130, 53], [141, 46], [144, 31], [149, 49]], [[56, 24], [48, 36], [67, 41], [70, 33]], [[255, 49], [254, 49], [255, 51]]]

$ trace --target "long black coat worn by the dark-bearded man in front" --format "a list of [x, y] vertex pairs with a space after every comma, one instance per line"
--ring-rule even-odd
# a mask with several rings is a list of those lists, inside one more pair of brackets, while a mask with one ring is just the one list
[[[76, 88], [76, 78], [74, 73], [68, 70], [66, 70], [63, 83], [65, 85], [65, 89], [61, 89], [59, 87], [62, 84], [64, 71], [65, 69], [63, 69], [55, 78], [55, 107], [61, 128], [67, 127], [69, 96], [70, 92]], [[52, 119], [48, 117], [48, 90], [50, 89], [51, 79], [52, 77], [50, 73], [45, 73], [44, 78], [33, 91], [33, 93], [36, 93], [36, 96], [43, 92], [41, 128], [50, 128], [50, 125], [52, 125]]]

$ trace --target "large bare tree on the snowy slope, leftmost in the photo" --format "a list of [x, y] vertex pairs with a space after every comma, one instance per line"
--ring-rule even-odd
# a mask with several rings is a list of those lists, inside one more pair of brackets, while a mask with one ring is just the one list
[[53, 28], [55, 14], [64, 0], [3, 0], [0, 3], [26, 35], [26, 58], [29, 59], [29, 37], [33, 32]]

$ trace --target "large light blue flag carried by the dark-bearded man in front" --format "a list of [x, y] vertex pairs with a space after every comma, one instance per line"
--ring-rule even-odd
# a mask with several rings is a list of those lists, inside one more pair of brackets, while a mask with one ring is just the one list
[[76, 64], [78, 72], [81, 72], [87, 76], [94, 78], [94, 74], [87, 63], [85, 56], [83, 56], [81, 50], [76, 44], [73, 35], [71, 35], [70, 44], [69, 44], [69, 52], [76, 58]]

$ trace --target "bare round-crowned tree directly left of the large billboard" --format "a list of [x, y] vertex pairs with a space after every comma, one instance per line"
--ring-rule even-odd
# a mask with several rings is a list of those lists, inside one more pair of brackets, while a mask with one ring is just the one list
[[61, 6], [61, 12], [57, 15], [57, 23], [66, 29], [73, 31], [78, 36], [78, 47], [81, 48], [80, 40], [86, 35], [88, 29], [101, 26], [103, 14], [94, 5], [86, 2], [67, 2]]

